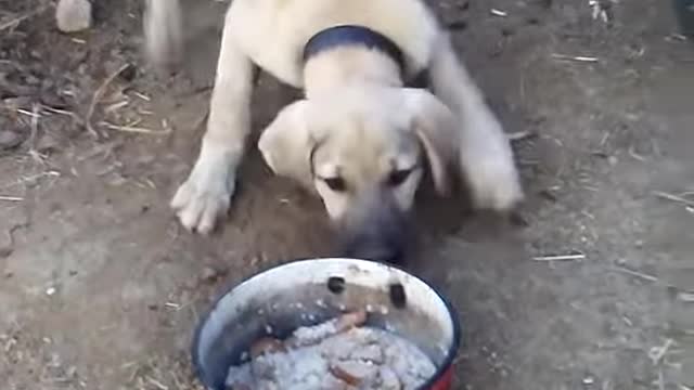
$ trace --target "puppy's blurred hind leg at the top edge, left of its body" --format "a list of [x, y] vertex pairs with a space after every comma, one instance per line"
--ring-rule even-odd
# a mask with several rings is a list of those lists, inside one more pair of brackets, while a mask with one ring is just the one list
[[177, 65], [183, 55], [183, 26], [179, 0], [147, 0], [144, 49], [157, 70]]

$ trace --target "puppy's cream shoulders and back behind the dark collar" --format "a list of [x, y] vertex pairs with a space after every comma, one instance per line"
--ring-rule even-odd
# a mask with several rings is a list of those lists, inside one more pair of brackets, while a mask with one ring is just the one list
[[316, 32], [336, 25], [365, 26], [390, 38], [406, 54], [410, 76], [427, 66], [438, 32], [424, 5], [408, 0], [234, 1], [226, 32], [237, 39], [253, 63], [304, 88], [305, 44]]

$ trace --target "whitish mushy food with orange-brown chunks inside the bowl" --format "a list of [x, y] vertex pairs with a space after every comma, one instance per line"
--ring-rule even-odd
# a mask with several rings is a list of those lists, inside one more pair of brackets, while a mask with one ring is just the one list
[[435, 373], [416, 346], [386, 330], [363, 326], [367, 311], [297, 328], [280, 341], [261, 338], [249, 361], [232, 366], [232, 390], [419, 389]]

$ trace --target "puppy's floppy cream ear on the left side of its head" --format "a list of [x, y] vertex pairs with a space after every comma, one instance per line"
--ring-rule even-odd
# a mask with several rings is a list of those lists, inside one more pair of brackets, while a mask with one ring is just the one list
[[305, 184], [311, 184], [310, 154], [316, 145], [309, 130], [310, 105], [301, 100], [282, 108], [258, 140], [258, 148], [275, 174]]

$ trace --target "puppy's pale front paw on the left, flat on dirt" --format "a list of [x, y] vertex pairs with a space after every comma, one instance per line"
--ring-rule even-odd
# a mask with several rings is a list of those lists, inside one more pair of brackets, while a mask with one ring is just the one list
[[171, 200], [181, 224], [208, 234], [227, 214], [235, 186], [235, 168], [226, 159], [200, 158]]

